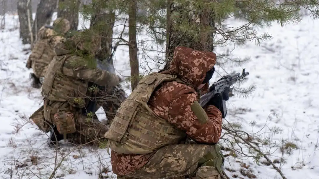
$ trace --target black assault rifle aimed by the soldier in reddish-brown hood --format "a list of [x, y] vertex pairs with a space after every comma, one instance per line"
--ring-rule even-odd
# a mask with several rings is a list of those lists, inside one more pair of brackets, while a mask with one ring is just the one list
[[[240, 73], [232, 73], [230, 75], [224, 76], [219, 81], [216, 81], [211, 87], [209, 87], [209, 92], [202, 95], [199, 99], [200, 105], [205, 108], [208, 101], [211, 100], [211, 98], [214, 97], [215, 94], [220, 93], [222, 94], [227, 88], [232, 86], [237, 81], [244, 79], [246, 76], [249, 75], [249, 72], [245, 72], [245, 68], [242, 69], [242, 74]], [[232, 90], [230, 89], [230, 94], [232, 94]], [[227, 108], [226, 108], [226, 101], [223, 99], [222, 101], [222, 116], [223, 118], [226, 116]]]

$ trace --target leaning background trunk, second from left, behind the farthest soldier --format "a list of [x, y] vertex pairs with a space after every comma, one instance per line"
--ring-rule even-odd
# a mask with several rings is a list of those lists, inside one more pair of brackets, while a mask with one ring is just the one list
[[52, 14], [56, 9], [57, 0], [40, 0], [32, 26], [33, 38], [37, 39], [39, 29], [46, 24], [50, 24]]

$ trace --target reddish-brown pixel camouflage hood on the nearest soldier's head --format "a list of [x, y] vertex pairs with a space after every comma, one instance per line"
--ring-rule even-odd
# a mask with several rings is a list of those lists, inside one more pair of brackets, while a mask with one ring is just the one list
[[201, 52], [188, 47], [176, 47], [169, 70], [178, 74], [182, 80], [193, 87], [198, 87], [204, 81], [208, 72], [216, 63], [214, 52]]

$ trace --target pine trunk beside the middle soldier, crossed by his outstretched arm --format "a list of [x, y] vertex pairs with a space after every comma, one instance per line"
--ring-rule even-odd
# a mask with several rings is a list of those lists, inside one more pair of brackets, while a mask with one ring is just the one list
[[[97, 30], [102, 35], [102, 48], [96, 57], [102, 61], [107, 61], [107, 70], [109, 72], [115, 73], [114, 63], [111, 56], [115, 13], [112, 9], [98, 8], [105, 7], [105, 5], [101, 5], [100, 3], [107, 3], [107, 1], [100, 0], [96, 3], [97, 4], [94, 4], [94, 7], [97, 7], [96, 12], [93, 14], [90, 24], [90, 29]], [[108, 118], [108, 123], [110, 123], [114, 119], [117, 109], [126, 99], [126, 95], [122, 86], [120, 85], [113, 87], [113, 89], [110, 91], [106, 90], [104, 93], [102, 92], [101, 95], [103, 95], [103, 100], [98, 101], [98, 106], [103, 107]]]

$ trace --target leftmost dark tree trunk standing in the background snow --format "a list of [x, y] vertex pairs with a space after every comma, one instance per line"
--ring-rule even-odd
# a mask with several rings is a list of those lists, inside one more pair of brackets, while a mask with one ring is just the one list
[[[18, 1], [18, 15], [20, 23], [20, 37], [22, 38], [22, 44], [31, 44], [29, 24], [33, 23], [32, 16], [28, 18], [28, 12], [32, 12], [32, 6], [30, 0], [19, 0]], [[29, 2], [29, 3], [28, 3]], [[32, 15], [32, 14], [31, 14]]]

